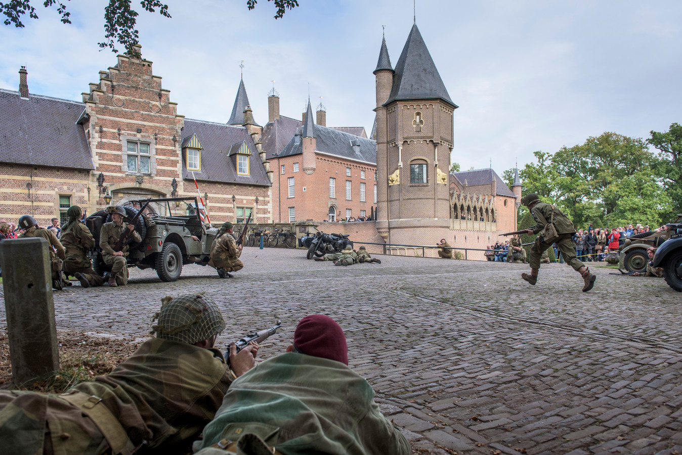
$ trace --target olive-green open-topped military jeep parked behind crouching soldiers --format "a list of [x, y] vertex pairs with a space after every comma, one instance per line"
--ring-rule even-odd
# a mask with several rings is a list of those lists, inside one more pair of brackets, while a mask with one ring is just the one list
[[[145, 202], [146, 200], [142, 199], [132, 202], [136, 207], [123, 206], [128, 214], [123, 221], [130, 223]], [[208, 264], [211, 245], [218, 230], [207, 228], [201, 221], [196, 210], [198, 206], [196, 198], [159, 198], [150, 202], [143, 216], [134, 224], [142, 241], [128, 243], [128, 267], [153, 268], [162, 281], [176, 281], [180, 277], [183, 265]], [[176, 212], [183, 210], [188, 215], [161, 216], [153, 211], [162, 209], [165, 213], [173, 214], [172, 208], [175, 208]], [[99, 247], [102, 225], [109, 221], [111, 215], [105, 210], [90, 215], [86, 220], [88, 229], [95, 237], [96, 243], [91, 251], [91, 258], [93, 268], [99, 274], [111, 270], [110, 266], [104, 264], [102, 249]], [[194, 240], [192, 236], [199, 240]]]

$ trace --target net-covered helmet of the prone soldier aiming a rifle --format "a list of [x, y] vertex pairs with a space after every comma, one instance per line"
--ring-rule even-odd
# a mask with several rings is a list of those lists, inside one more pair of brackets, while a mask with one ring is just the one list
[[151, 326], [150, 334], [190, 345], [207, 340], [225, 328], [218, 305], [203, 294], [162, 298], [161, 310], [152, 317], [152, 323], [155, 320], [157, 324]]

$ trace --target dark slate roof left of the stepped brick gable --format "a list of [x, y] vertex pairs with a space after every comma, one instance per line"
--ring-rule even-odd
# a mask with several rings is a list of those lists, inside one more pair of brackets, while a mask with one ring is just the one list
[[84, 103], [0, 89], [0, 162], [91, 170]]

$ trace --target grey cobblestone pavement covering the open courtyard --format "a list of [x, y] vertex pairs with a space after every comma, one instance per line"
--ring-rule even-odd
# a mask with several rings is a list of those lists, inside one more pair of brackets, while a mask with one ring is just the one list
[[136, 269], [127, 287], [76, 283], [55, 292], [57, 327], [141, 339], [162, 296], [206, 291], [226, 315], [221, 343], [282, 319], [267, 357], [303, 315], [325, 313], [415, 450], [682, 453], [682, 294], [663, 279], [593, 267], [583, 293], [563, 264], [533, 287], [523, 264], [380, 255], [336, 267], [304, 255], [246, 248], [235, 279], [192, 265], [175, 283]]

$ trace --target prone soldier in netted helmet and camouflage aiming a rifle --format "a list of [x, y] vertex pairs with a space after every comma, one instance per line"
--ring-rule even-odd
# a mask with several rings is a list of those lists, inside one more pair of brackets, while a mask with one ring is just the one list
[[213, 349], [225, 321], [203, 295], [166, 297], [155, 319], [156, 337], [106, 376], [63, 394], [1, 391], [0, 447], [13, 455], [187, 453], [233, 379], [255, 365], [258, 346], [237, 354], [231, 345], [231, 371]]

